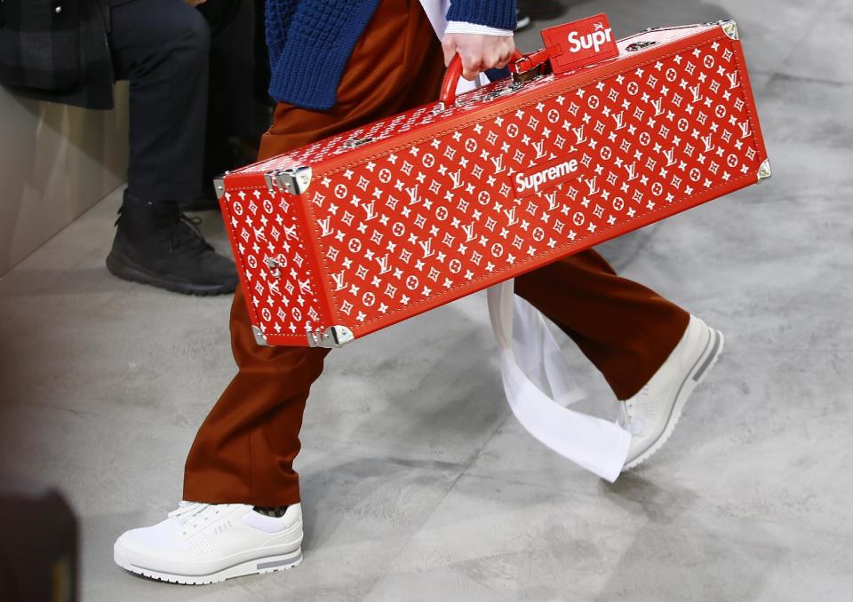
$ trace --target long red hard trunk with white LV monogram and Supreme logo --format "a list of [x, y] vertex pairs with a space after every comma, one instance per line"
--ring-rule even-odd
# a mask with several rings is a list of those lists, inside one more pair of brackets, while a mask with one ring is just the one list
[[770, 175], [733, 21], [547, 67], [218, 180], [259, 344], [343, 345]]

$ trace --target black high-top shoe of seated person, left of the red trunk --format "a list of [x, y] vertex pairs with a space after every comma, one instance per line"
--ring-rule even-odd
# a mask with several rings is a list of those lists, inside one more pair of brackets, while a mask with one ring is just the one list
[[110, 273], [185, 295], [234, 292], [234, 262], [216, 253], [195, 222], [173, 202], [147, 202], [124, 192]]

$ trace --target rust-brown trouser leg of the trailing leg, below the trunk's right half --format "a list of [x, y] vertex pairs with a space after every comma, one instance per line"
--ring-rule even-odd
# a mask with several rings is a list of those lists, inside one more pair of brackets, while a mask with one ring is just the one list
[[578, 344], [620, 400], [658, 371], [690, 320], [678, 305], [618, 276], [594, 250], [516, 278], [515, 294]]

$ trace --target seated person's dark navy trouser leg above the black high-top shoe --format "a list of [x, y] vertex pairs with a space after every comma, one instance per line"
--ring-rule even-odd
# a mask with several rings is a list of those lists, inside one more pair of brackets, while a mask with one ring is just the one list
[[117, 79], [130, 80], [130, 194], [177, 201], [201, 193], [210, 32], [178, 0], [133, 0], [111, 10]]

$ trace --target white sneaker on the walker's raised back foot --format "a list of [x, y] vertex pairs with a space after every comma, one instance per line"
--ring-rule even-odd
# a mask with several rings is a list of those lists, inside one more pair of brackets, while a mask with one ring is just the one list
[[682, 340], [655, 376], [634, 397], [619, 404], [619, 423], [632, 435], [622, 471], [642, 463], [666, 443], [684, 403], [713, 368], [722, 345], [720, 331], [691, 315]]

